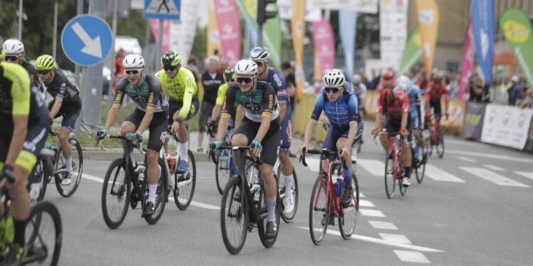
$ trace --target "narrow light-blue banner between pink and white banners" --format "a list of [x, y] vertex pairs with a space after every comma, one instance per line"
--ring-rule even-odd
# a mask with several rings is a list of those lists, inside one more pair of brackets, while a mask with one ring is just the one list
[[357, 32], [357, 11], [339, 10], [340, 41], [343, 43], [346, 79], [352, 80], [355, 62], [355, 36]]

